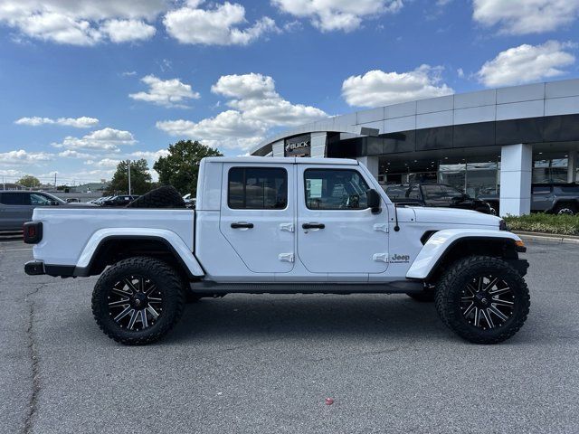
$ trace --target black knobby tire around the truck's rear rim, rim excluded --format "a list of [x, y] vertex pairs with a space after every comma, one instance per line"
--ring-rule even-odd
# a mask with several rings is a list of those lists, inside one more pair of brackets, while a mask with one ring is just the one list
[[[142, 330], [122, 328], [111, 316], [109, 295], [116, 282], [131, 276], [150, 279], [162, 294], [162, 313], [157, 322]], [[148, 257], [123, 259], [100, 276], [92, 292], [92, 315], [100, 330], [109, 338], [127, 345], [150, 344], [176, 325], [183, 314], [185, 294], [183, 281], [166, 262]]]

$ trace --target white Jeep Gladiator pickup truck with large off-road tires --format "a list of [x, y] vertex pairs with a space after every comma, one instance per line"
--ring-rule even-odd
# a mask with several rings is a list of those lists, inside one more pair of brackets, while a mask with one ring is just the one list
[[529, 310], [526, 248], [504, 221], [395, 207], [355, 160], [205, 158], [195, 210], [37, 208], [24, 241], [29, 275], [100, 275], [92, 312], [122, 344], [165, 335], [187, 298], [227, 293], [406, 293], [479, 344]]

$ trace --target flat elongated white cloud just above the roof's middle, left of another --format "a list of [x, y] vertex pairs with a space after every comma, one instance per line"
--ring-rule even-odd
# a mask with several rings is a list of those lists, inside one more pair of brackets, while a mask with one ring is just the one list
[[414, 71], [368, 71], [348, 77], [342, 83], [342, 96], [350, 106], [381, 107], [415, 99], [441, 97], [454, 93], [442, 82], [441, 67], [422, 65]]

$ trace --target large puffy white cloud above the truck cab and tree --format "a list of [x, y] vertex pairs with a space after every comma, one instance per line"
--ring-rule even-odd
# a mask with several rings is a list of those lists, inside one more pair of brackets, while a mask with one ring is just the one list
[[157, 128], [169, 135], [197, 139], [210, 146], [246, 150], [259, 143], [272, 127], [291, 127], [327, 118], [323, 110], [282, 99], [275, 91], [273, 79], [261, 74], [223, 76], [212, 91], [230, 98], [227, 102], [230, 109], [199, 122], [160, 121]]

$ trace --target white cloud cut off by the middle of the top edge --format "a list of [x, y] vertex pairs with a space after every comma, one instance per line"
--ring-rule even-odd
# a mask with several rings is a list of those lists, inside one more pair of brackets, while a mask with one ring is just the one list
[[356, 30], [365, 18], [395, 13], [403, 0], [271, 0], [282, 12], [309, 18], [323, 32]]

